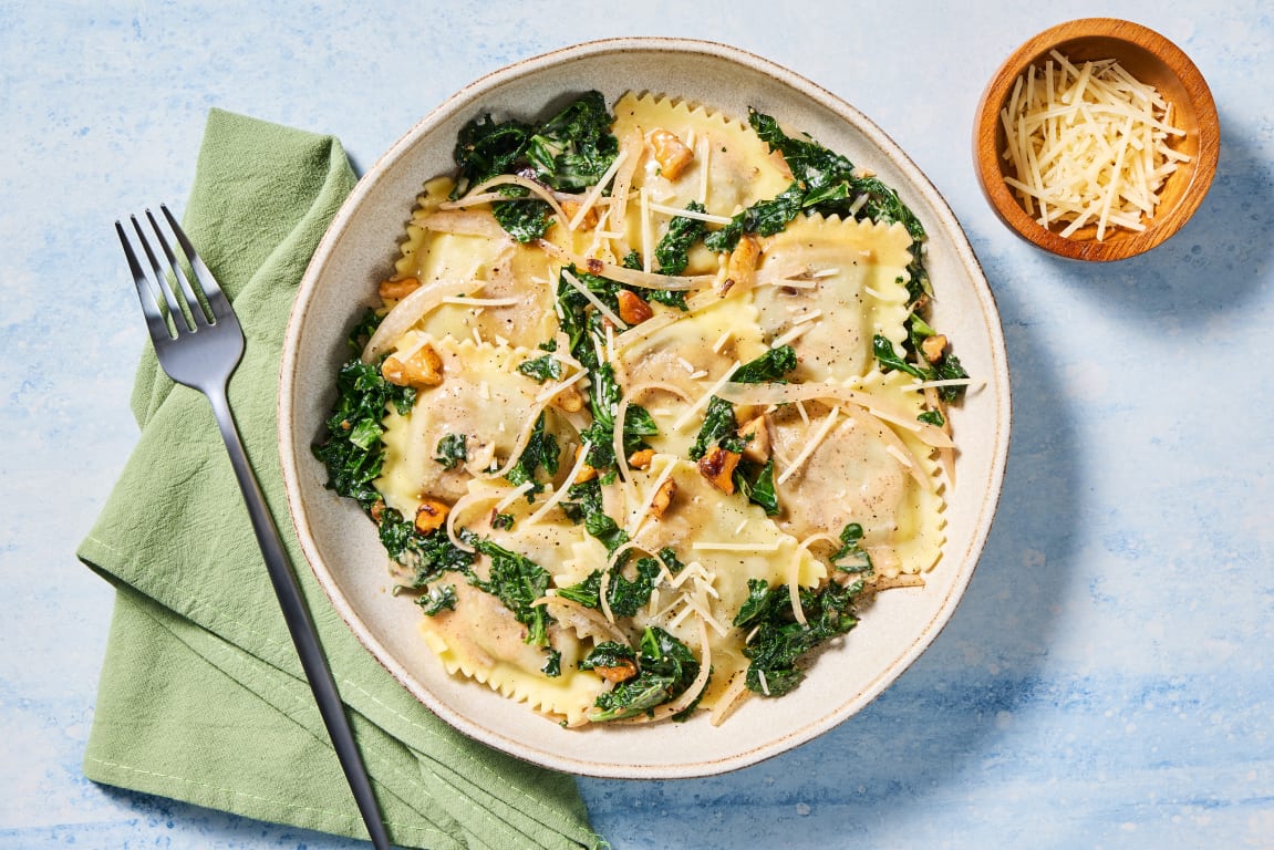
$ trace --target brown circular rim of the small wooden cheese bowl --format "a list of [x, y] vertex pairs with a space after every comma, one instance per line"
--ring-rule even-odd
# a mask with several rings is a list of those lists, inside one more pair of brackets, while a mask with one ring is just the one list
[[[1000, 125], [1000, 108], [1017, 78], [1027, 65], [1059, 43], [1078, 38], [1108, 38], [1129, 43], [1153, 54], [1181, 82], [1195, 112], [1194, 131], [1199, 136], [1199, 153], [1190, 168], [1190, 182], [1178, 204], [1164, 210], [1140, 233], [1121, 233], [1120, 238], [1098, 242], [1071, 240], [1055, 233], [1027, 214], [1009, 191], [999, 167], [995, 144]], [[1024, 41], [1000, 64], [978, 99], [973, 121], [973, 171], [980, 187], [1000, 220], [1018, 237], [1051, 254], [1092, 261], [1115, 261], [1144, 254], [1175, 236], [1203, 203], [1217, 172], [1220, 148], [1220, 125], [1212, 89], [1189, 55], [1163, 34], [1143, 24], [1121, 18], [1078, 18], [1055, 24]]]

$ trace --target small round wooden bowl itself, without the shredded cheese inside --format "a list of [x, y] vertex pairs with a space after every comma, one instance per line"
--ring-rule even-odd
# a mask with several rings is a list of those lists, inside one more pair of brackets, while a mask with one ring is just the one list
[[[1190, 155], [1177, 166], [1159, 191], [1154, 217], [1145, 219], [1142, 232], [1107, 229], [1097, 241], [1096, 226], [1078, 229], [1070, 237], [1045, 228], [1023, 209], [1017, 195], [1004, 182], [1012, 164], [1001, 153], [1005, 133], [1000, 111], [1013, 92], [1013, 84], [1032, 64], [1042, 64], [1056, 50], [1073, 62], [1115, 59], [1140, 82], [1153, 85], [1172, 103], [1172, 124], [1186, 135], [1173, 148]], [[1074, 260], [1124, 260], [1149, 251], [1176, 233], [1199, 208], [1220, 150], [1217, 104], [1203, 74], [1181, 48], [1159, 33], [1127, 20], [1084, 18], [1046, 29], [1019, 47], [1000, 66], [982, 93], [973, 125], [973, 159], [977, 180], [1000, 219], [1018, 236], [1052, 254]], [[1060, 231], [1064, 224], [1057, 226]]]

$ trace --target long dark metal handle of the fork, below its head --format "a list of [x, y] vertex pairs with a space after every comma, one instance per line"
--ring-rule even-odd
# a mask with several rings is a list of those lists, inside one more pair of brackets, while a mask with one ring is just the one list
[[213, 405], [213, 415], [217, 418], [217, 427], [225, 441], [225, 450], [231, 456], [231, 465], [234, 468], [234, 477], [238, 479], [240, 489], [243, 492], [243, 502], [247, 505], [248, 516], [252, 519], [252, 530], [256, 533], [256, 542], [261, 547], [261, 556], [265, 558], [266, 570], [270, 572], [270, 581], [274, 584], [274, 593], [279, 598], [283, 608], [283, 618], [288, 623], [292, 633], [292, 642], [296, 644], [297, 655], [301, 656], [301, 666], [310, 681], [310, 689], [313, 691], [315, 701], [318, 703], [318, 712], [322, 715], [324, 725], [336, 749], [336, 758], [340, 760], [345, 780], [354, 793], [354, 802], [363, 816], [363, 823], [371, 836], [376, 850], [390, 850], [390, 840], [386, 835], [381, 810], [372, 793], [372, 784], [363, 765], [363, 757], [354, 742], [354, 733], [345, 715], [345, 707], [336, 691], [331, 669], [324, 655], [322, 645], [318, 642], [318, 632], [315, 630], [310, 609], [306, 607], [301, 594], [301, 585], [292, 563], [279, 539], [279, 529], [274, 524], [274, 517], [265, 506], [265, 497], [261, 486], [252, 473], [252, 466], [247, 461], [243, 451], [243, 441], [238, 428], [234, 426], [234, 415], [231, 413], [229, 401], [225, 398], [225, 387], [204, 387], [209, 401]]

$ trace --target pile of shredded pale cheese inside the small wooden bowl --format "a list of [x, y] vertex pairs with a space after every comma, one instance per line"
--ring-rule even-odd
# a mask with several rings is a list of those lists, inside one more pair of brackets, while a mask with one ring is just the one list
[[1000, 112], [1004, 181], [1043, 227], [1071, 236], [1089, 224], [1097, 240], [1119, 227], [1145, 229], [1177, 163], [1171, 104], [1115, 60], [1075, 66], [1057, 51], [1017, 79]]

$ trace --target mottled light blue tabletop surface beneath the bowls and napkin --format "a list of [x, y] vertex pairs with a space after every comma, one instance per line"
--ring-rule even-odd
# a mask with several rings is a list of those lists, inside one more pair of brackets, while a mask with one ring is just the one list
[[[0, 3], [0, 847], [367, 846], [80, 775], [112, 593], [73, 552], [145, 344], [113, 219], [183, 205], [209, 107], [333, 133], [363, 169], [474, 76], [626, 34], [764, 55], [892, 135], [985, 265], [1015, 422], [964, 603], [894, 687], [731, 775], [583, 780], [595, 826], [617, 850], [1274, 847], [1268, 3], [358, 5]], [[1093, 14], [1180, 45], [1223, 140], [1195, 219], [1106, 266], [1010, 236], [970, 157], [999, 62]]]

